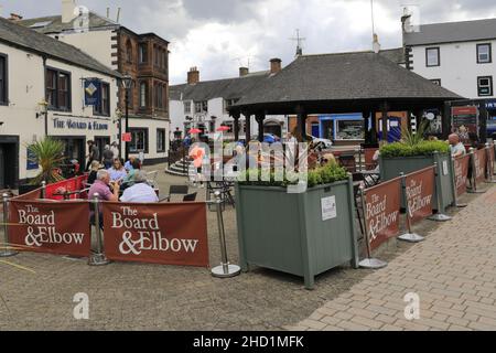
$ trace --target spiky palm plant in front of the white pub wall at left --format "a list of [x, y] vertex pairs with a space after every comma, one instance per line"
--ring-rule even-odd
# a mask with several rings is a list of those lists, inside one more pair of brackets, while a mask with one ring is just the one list
[[64, 142], [51, 137], [28, 146], [32, 156], [30, 161], [37, 163], [41, 168], [41, 172], [31, 180], [31, 184], [39, 185], [42, 181], [50, 184], [64, 180], [60, 173], [60, 167], [65, 159], [64, 149]]

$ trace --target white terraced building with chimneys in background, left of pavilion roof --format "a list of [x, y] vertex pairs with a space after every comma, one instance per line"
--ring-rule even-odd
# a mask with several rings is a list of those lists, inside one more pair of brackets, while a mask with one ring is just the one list
[[[204, 133], [213, 135], [220, 126], [229, 127], [224, 133], [226, 139], [234, 139], [234, 119], [229, 117], [227, 108], [237, 103], [248, 90], [259, 83], [281, 71], [281, 61], [272, 58], [270, 69], [249, 73], [247, 67], [239, 68], [239, 77], [201, 81], [200, 71], [192, 67], [187, 73], [187, 83], [171, 86], [170, 118], [171, 139], [184, 138], [191, 128], [198, 128]], [[282, 137], [288, 131], [285, 116], [268, 116], [263, 120], [265, 133]], [[258, 133], [258, 125], [251, 117], [250, 133]], [[175, 136], [174, 136], [175, 135]], [[239, 138], [246, 137], [246, 121], [239, 120]]]

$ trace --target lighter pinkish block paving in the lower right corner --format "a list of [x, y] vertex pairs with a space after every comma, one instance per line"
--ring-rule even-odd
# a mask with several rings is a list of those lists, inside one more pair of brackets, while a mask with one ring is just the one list
[[[420, 298], [408, 321], [403, 296]], [[496, 188], [291, 330], [496, 330]]]

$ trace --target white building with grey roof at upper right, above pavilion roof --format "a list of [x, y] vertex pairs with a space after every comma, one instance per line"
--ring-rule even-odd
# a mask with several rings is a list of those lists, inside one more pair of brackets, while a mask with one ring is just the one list
[[496, 19], [423, 24], [403, 17], [407, 68], [466, 98], [493, 98]]

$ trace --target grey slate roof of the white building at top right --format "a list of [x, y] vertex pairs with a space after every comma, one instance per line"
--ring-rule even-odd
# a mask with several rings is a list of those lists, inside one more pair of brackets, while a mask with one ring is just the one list
[[405, 33], [407, 45], [473, 42], [496, 39], [496, 19], [420, 25], [419, 32]]

